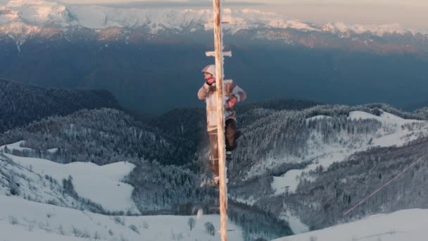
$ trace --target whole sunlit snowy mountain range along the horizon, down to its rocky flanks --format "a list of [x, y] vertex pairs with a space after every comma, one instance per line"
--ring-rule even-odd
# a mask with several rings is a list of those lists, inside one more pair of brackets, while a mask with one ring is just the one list
[[[110, 33], [104, 32], [103, 37], [99, 37], [99, 39], [115, 39], [120, 32], [121, 35], [127, 35], [124, 39], [129, 41], [132, 39], [130, 32], [135, 31], [146, 32], [149, 35], [163, 35], [211, 30], [213, 28], [213, 25], [210, 24], [212, 16], [213, 13], [209, 9], [113, 8], [96, 5], [67, 5], [57, 1], [13, 0], [3, 1], [3, 4], [0, 5], [0, 35], [11, 37], [20, 45], [25, 39], [34, 37], [34, 35], [49, 38], [58, 34], [64, 35], [68, 30], [76, 28], [86, 28], [95, 32], [111, 29]], [[223, 21], [227, 22], [223, 29], [232, 35], [249, 34], [251, 39], [275, 40], [309, 47], [318, 46], [317, 41], [324, 41], [322, 45], [334, 46], [334, 44], [327, 44], [326, 40], [322, 40], [322, 35], [326, 34], [353, 42], [358, 40], [359, 43], [365, 45], [376, 42], [376, 38], [388, 38], [391, 35], [424, 39], [424, 41], [427, 39], [426, 32], [405, 29], [398, 24], [327, 23], [326, 25], [315, 25], [277, 13], [251, 9], [232, 10], [227, 8], [223, 11]], [[117, 28], [123, 30], [118, 32]], [[248, 33], [252, 30], [256, 30], [256, 32]], [[284, 30], [287, 31], [284, 32]], [[293, 31], [297, 31], [303, 36], [296, 37], [296, 33]], [[308, 33], [310, 36], [316, 35], [316, 37], [309, 40], [307, 39]]]

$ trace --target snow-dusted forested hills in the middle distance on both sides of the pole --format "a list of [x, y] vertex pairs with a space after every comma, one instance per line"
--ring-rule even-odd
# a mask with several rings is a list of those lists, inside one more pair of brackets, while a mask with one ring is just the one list
[[[228, 167], [233, 206], [229, 220], [242, 228], [244, 240], [271, 240], [370, 214], [427, 208], [428, 197], [420, 188], [427, 182], [422, 162], [370, 202], [342, 215], [423, 154], [427, 109], [410, 113], [384, 104], [315, 106], [298, 101], [250, 106], [241, 107], [243, 135]], [[0, 136], [0, 151], [11, 156], [61, 165], [132, 163], [134, 168], [121, 181], [132, 187], [133, 209], [113, 210], [82, 196], [71, 188], [79, 186], [71, 174], [42, 177], [66, 199], [56, 199], [55, 193], [49, 199], [37, 198], [28, 193], [31, 188], [4, 185], [9, 194], [28, 200], [98, 214], [195, 215], [197, 209], [215, 214], [218, 193], [199, 187], [209, 173], [201, 113], [177, 109], [141, 123], [115, 109], [82, 110]]]

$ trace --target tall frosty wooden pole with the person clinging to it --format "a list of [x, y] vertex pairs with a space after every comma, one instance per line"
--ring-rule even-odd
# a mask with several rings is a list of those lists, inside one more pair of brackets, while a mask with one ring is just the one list
[[223, 103], [223, 43], [220, 0], [213, 0], [214, 6], [214, 46], [215, 46], [215, 86], [217, 87], [217, 136], [220, 192], [220, 235], [227, 241], [227, 188], [225, 165], [225, 103]]

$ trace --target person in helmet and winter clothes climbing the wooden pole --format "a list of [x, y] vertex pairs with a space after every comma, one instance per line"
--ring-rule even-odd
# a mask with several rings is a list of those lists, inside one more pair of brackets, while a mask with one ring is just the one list
[[[219, 167], [218, 167], [218, 137], [217, 137], [217, 97], [215, 87], [215, 65], [208, 65], [202, 69], [205, 83], [199, 89], [198, 98], [206, 101], [206, 121], [207, 130], [210, 140], [210, 170], [213, 171], [214, 178], [211, 180], [212, 185], [218, 185]], [[244, 101], [246, 93], [232, 80], [224, 82], [225, 101], [225, 142], [226, 142], [226, 161], [232, 160], [232, 151], [237, 147], [237, 113], [234, 111], [234, 106], [237, 101]]]

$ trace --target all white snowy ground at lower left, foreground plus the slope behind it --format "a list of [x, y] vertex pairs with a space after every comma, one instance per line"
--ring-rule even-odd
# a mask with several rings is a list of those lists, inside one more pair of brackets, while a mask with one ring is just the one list
[[[8, 149], [19, 149], [20, 143]], [[10, 159], [11, 161], [9, 161]], [[46, 175], [62, 183], [73, 176], [75, 190], [81, 197], [101, 204], [109, 211], [138, 211], [131, 199], [133, 187], [120, 180], [134, 168], [131, 163], [97, 166], [94, 163], [60, 164], [44, 159], [0, 156], [0, 241], [77, 241], [77, 240], [219, 240], [218, 233], [210, 235], [205, 223], [219, 228], [220, 216], [106, 216], [72, 209], [61, 188], [49, 182]], [[6, 173], [4, 175], [1, 174]], [[8, 187], [11, 173], [13, 183], [19, 184], [20, 196], [13, 196]], [[60, 189], [58, 189], [60, 188]], [[26, 197], [27, 199], [24, 199]], [[37, 200], [37, 202], [30, 201]], [[46, 204], [56, 199], [62, 206]], [[61, 200], [61, 201], [59, 201]], [[74, 206], [73, 206], [74, 207]], [[196, 220], [190, 230], [189, 218]], [[228, 223], [229, 240], [243, 240], [241, 228]]]

